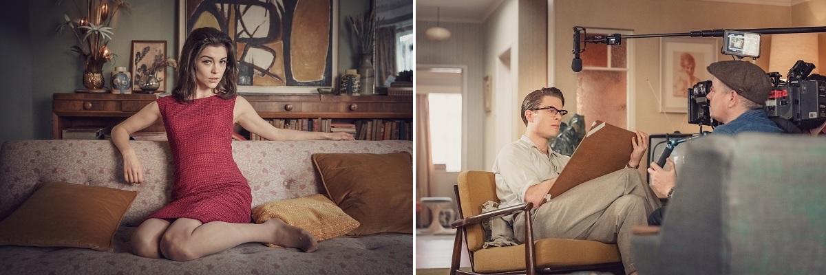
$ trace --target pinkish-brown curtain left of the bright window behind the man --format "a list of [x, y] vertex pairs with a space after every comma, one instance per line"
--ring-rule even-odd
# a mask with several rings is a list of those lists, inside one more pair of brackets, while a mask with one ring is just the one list
[[415, 173], [416, 202], [422, 197], [430, 197], [430, 182], [433, 161], [430, 158], [430, 107], [427, 94], [415, 95]]

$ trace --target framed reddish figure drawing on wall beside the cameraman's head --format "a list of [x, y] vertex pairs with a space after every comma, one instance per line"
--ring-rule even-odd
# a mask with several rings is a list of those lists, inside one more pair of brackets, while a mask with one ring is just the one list
[[660, 39], [660, 111], [687, 112], [689, 89], [711, 80], [705, 67], [717, 61], [714, 38]]

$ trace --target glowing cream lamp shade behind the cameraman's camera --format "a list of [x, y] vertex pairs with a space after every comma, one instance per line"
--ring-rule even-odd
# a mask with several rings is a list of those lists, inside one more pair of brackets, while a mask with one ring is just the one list
[[771, 53], [769, 54], [769, 72], [778, 72], [783, 78], [797, 60], [814, 64], [812, 73], [817, 73], [818, 34], [793, 33], [771, 35]]

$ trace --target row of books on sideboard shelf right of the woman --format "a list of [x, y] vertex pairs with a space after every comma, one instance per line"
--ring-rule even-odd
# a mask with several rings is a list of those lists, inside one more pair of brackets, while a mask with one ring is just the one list
[[[355, 123], [333, 122], [332, 119], [272, 119], [270, 124], [280, 129], [306, 130], [316, 132], [344, 132], [356, 140], [413, 140], [412, 123], [400, 120], [359, 120]], [[236, 140], [240, 140], [237, 138]], [[249, 133], [249, 140], [266, 140]]]

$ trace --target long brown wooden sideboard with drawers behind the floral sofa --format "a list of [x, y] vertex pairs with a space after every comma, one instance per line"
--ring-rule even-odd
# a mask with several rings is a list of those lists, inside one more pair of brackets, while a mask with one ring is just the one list
[[[241, 96], [264, 119], [330, 118], [344, 122], [358, 119], [413, 120], [413, 97], [312, 94]], [[52, 95], [52, 139], [61, 139], [63, 130], [71, 127], [116, 126], [156, 98], [155, 94], [143, 93], [55, 93]], [[144, 131], [164, 131], [164, 126], [159, 122]]]

